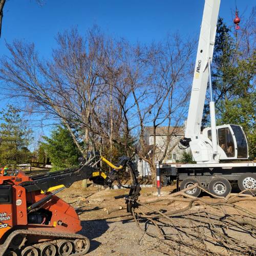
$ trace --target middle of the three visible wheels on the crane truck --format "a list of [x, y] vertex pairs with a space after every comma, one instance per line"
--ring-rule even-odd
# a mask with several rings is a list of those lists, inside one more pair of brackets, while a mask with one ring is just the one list
[[231, 192], [229, 181], [223, 177], [213, 178], [208, 188], [211, 194], [219, 197], [226, 197]]

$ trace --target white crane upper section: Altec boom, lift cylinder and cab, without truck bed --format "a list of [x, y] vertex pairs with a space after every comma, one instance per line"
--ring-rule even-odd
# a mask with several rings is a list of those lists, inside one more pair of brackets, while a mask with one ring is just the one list
[[[248, 144], [242, 127], [234, 124], [216, 126], [210, 68], [220, 2], [221, 0], [205, 0], [185, 137], [180, 140], [183, 146], [190, 146], [193, 158], [198, 164], [248, 158]], [[208, 79], [211, 125], [201, 132]]]

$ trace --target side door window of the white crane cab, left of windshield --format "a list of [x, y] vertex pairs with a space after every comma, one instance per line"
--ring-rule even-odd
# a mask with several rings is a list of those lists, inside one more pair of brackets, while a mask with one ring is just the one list
[[234, 141], [229, 127], [218, 129], [219, 146], [224, 150], [227, 157], [234, 157]]

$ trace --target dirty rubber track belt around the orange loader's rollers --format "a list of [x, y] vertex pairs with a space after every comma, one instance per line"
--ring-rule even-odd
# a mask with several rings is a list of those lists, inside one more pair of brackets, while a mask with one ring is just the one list
[[17, 229], [15, 231], [13, 231], [6, 239], [5, 243], [0, 246], [0, 256], [4, 255], [4, 253], [8, 249], [8, 246], [10, 245], [12, 239], [15, 236], [17, 236], [17, 234], [28, 234], [28, 235], [34, 234], [36, 236], [54, 237], [55, 240], [58, 240], [58, 239], [86, 239], [87, 240], [86, 248], [81, 252], [70, 254], [72, 256], [84, 255], [88, 252], [88, 250], [90, 248], [90, 240], [87, 237], [82, 236], [81, 234], [55, 233], [55, 232], [53, 233], [53, 232], [45, 232], [45, 231], [39, 231], [39, 230], [36, 231], [36, 230]]

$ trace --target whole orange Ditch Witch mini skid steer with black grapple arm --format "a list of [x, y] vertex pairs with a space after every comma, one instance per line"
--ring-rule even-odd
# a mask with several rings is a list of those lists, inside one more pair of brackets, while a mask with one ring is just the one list
[[[122, 157], [120, 166], [130, 166], [134, 185], [126, 198], [127, 209], [139, 196], [137, 169], [130, 158]], [[111, 163], [110, 163], [111, 164]], [[90, 248], [81, 230], [75, 209], [56, 194], [75, 181], [90, 179], [111, 185], [117, 169], [106, 176], [86, 163], [81, 168], [28, 177], [24, 172], [0, 176], [0, 256], [2, 255], [84, 255]], [[52, 192], [51, 192], [52, 191]]]

